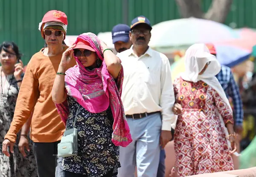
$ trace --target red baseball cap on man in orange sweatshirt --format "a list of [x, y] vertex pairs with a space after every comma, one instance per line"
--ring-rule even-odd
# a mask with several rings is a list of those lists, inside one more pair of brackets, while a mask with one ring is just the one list
[[48, 11], [44, 15], [42, 22], [45, 23], [50, 21], [62, 22], [64, 25], [67, 25], [67, 15], [62, 11], [57, 11], [57, 10]]

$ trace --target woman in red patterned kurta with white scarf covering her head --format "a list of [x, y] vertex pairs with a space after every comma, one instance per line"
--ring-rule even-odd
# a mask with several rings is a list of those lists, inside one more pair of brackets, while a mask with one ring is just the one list
[[206, 45], [195, 44], [186, 51], [185, 72], [174, 81], [178, 176], [234, 169], [233, 113], [215, 77], [220, 70]]

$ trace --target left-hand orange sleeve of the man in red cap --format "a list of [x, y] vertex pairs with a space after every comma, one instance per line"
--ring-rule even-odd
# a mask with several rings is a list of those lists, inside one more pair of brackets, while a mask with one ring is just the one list
[[4, 137], [4, 139], [8, 139], [13, 143], [15, 143], [17, 133], [20, 131], [23, 124], [25, 124], [29, 119], [39, 95], [38, 79], [35, 78], [36, 74], [34, 75], [32, 73], [31, 67], [35, 67], [35, 63], [29, 62], [27, 65], [17, 97], [14, 117], [12, 119], [10, 129]]

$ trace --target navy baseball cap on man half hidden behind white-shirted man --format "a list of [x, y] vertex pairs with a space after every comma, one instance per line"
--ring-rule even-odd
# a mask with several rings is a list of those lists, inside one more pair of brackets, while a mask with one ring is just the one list
[[130, 31], [131, 31], [131, 28], [128, 25], [125, 25], [125, 24], [115, 25], [112, 29], [113, 44], [118, 41], [128, 42]]

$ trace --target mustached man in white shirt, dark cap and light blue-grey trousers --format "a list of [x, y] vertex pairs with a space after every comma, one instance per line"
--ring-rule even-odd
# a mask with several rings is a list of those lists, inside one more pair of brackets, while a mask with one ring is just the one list
[[[122, 101], [133, 139], [127, 147], [120, 147], [119, 177], [133, 177], [135, 166], [138, 177], [156, 177], [160, 148], [172, 139], [171, 129], [175, 126], [170, 64], [163, 53], [148, 46], [151, 29], [146, 17], [136, 17], [129, 33], [133, 45], [117, 54], [124, 68]], [[113, 43], [127, 33], [117, 34], [119, 39], [112, 35]]]

